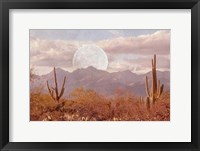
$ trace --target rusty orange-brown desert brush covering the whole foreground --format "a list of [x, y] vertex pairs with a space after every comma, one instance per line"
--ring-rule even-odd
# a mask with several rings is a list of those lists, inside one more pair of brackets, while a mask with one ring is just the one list
[[93, 90], [77, 88], [56, 103], [48, 94], [31, 93], [31, 121], [168, 121], [170, 94], [163, 93], [150, 110], [133, 95], [106, 98]]

